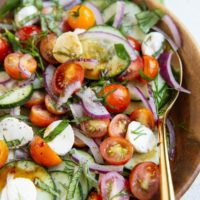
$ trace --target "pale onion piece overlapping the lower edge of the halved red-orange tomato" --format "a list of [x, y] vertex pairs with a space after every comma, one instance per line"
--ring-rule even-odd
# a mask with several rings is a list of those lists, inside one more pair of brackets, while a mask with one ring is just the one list
[[81, 88], [81, 82], [76, 81], [74, 83], [69, 84], [65, 90], [64, 90], [64, 95], [60, 96], [57, 101], [57, 106], [60, 107], [63, 104], [65, 104], [68, 99], [74, 94], [75, 91]]

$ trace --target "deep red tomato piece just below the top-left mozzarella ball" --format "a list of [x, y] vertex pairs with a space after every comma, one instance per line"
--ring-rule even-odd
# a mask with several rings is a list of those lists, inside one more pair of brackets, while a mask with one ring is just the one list
[[40, 32], [41, 28], [39, 26], [24, 26], [16, 32], [16, 36], [21, 41], [26, 41], [32, 36], [39, 34]]

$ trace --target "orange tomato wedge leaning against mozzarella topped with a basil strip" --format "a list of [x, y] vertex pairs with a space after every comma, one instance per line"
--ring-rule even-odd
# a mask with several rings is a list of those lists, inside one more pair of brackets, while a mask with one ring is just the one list
[[62, 159], [39, 136], [36, 136], [32, 140], [30, 144], [30, 154], [36, 163], [45, 167], [59, 165], [62, 162]]

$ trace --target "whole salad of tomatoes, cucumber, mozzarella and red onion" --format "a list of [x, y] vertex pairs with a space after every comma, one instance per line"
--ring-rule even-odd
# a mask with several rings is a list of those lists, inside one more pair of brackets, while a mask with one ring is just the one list
[[189, 93], [172, 19], [132, 1], [8, 0], [0, 31], [0, 200], [157, 198], [159, 116]]

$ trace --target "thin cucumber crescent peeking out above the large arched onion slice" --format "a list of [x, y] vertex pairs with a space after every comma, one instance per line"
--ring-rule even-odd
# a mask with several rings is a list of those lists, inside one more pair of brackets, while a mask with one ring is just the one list
[[117, 30], [116, 28], [113, 28], [111, 26], [107, 26], [107, 25], [94, 26], [94, 27], [90, 28], [88, 31], [111, 33], [113, 35], [116, 35], [118, 37], [126, 39], [125, 36], [119, 30]]

